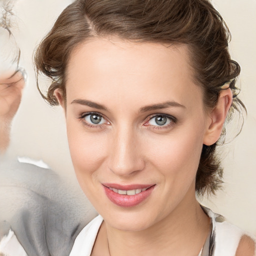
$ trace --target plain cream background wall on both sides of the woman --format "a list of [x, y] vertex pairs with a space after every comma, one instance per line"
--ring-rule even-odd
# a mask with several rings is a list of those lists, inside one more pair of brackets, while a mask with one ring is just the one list
[[[60, 107], [48, 106], [35, 86], [32, 53], [71, 0], [16, 0], [16, 28], [13, 30], [21, 49], [20, 65], [28, 74], [20, 108], [11, 131], [11, 156], [42, 159], [53, 170], [68, 178], [76, 189]], [[213, 0], [232, 34], [230, 52], [241, 66], [240, 98], [246, 105], [243, 129], [222, 149], [224, 189], [203, 204], [227, 217], [239, 227], [256, 234], [256, 0]], [[237, 121], [231, 125], [236, 130]], [[233, 134], [233, 132], [232, 132]], [[231, 136], [232, 137], [232, 136]], [[86, 159], [84, 159], [86, 161]]]

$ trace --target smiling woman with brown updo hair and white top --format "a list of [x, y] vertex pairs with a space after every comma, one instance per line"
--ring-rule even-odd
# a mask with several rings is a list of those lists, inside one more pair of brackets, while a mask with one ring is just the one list
[[[253, 255], [202, 207], [223, 123], [242, 103], [228, 29], [206, 0], [76, 0], [35, 54], [63, 107], [79, 184], [100, 214], [70, 255]], [[232, 234], [232, 237], [230, 236]]]

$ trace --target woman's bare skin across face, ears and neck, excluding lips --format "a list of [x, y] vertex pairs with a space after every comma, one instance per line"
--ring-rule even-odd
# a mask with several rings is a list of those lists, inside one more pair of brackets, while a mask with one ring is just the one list
[[[193, 80], [185, 45], [94, 38], [72, 52], [66, 99], [60, 89], [55, 95], [78, 182], [104, 219], [92, 255], [199, 253], [210, 223], [195, 198], [196, 170], [202, 144], [221, 133], [232, 94], [221, 91], [206, 110]], [[175, 104], [146, 107], [167, 101]], [[102, 115], [99, 125], [84, 116], [91, 111]], [[169, 116], [167, 124], [155, 122], [159, 114]], [[104, 182], [155, 187], [140, 204], [120, 207]]]

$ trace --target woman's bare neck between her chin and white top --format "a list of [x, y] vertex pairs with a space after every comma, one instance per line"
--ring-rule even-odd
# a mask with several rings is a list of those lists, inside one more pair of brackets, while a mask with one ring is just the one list
[[193, 193], [169, 215], [146, 230], [131, 232], [108, 226], [105, 234], [111, 256], [115, 255], [198, 255], [209, 232], [209, 218]]

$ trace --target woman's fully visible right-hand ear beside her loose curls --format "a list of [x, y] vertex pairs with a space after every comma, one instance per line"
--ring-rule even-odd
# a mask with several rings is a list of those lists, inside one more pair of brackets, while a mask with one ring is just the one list
[[230, 88], [221, 90], [216, 106], [208, 113], [206, 130], [203, 137], [203, 144], [214, 144], [222, 131], [222, 127], [232, 103], [232, 91]]

